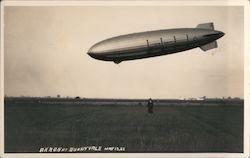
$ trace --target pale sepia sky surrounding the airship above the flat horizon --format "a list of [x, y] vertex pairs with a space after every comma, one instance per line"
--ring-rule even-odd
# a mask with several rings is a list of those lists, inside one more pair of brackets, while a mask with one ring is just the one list
[[[6, 6], [8, 96], [193, 98], [244, 96], [244, 12], [235, 6]], [[122, 34], [213, 22], [218, 48], [120, 64], [86, 53]]]

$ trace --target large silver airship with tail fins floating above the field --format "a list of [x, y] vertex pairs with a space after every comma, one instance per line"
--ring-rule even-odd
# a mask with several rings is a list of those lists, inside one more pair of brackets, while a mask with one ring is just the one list
[[119, 64], [197, 47], [207, 51], [217, 48], [216, 40], [222, 36], [224, 33], [214, 30], [213, 23], [202, 23], [195, 28], [146, 31], [108, 38], [94, 44], [87, 54], [94, 59]]

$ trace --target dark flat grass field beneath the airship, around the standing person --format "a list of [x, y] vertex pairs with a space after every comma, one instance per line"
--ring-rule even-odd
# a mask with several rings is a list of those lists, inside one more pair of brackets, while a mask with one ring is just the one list
[[6, 98], [4, 114], [7, 153], [92, 145], [243, 152], [243, 101], [161, 101], [149, 114], [145, 102]]

